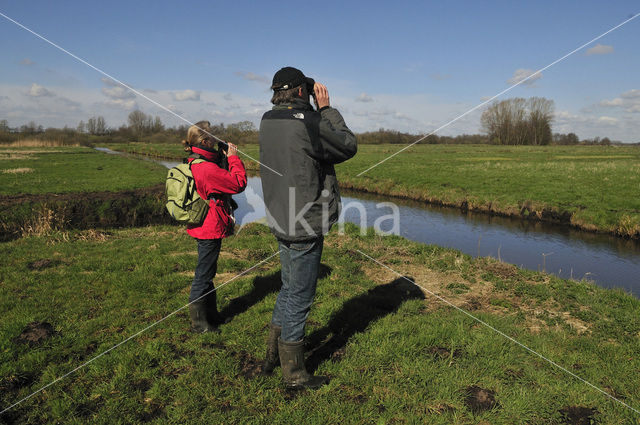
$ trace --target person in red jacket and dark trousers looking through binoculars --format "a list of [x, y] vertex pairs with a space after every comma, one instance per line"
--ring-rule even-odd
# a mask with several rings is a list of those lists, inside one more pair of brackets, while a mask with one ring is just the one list
[[[208, 121], [200, 121], [189, 127], [184, 150], [189, 152], [189, 163], [195, 163], [191, 172], [196, 190], [202, 199], [209, 200], [209, 211], [204, 222], [188, 225], [187, 233], [198, 241], [198, 265], [191, 283], [189, 316], [194, 332], [220, 332], [218, 325], [224, 319], [218, 313], [213, 278], [218, 267], [218, 255], [222, 239], [233, 234], [234, 219], [231, 194], [242, 192], [247, 186], [247, 174], [237, 155], [238, 148], [229, 143], [227, 152], [216, 149], [217, 142], [211, 136]], [[228, 161], [228, 170], [226, 163]]]

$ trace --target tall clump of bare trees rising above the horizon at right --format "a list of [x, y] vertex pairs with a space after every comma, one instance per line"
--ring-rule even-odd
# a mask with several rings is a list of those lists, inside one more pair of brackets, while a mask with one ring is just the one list
[[553, 100], [521, 97], [495, 101], [480, 119], [489, 141], [498, 145], [548, 145], [552, 141]]

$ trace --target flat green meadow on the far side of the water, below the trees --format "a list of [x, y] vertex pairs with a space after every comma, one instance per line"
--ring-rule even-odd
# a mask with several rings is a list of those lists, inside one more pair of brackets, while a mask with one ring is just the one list
[[[184, 156], [178, 144], [109, 147]], [[258, 158], [257, 146], [241, 148]], [[357, 176], [401, 148], [359, 146], [337, 167], [342, 187], [640, 237], [640, 147], [418, 144]]]

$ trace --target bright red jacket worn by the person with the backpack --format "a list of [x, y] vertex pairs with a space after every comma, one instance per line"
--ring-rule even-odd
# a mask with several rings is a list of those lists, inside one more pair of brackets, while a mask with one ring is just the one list
[[[208, 161], [215, 161], [217, 154], [204, 149], [192, 148], [193, 153], [202, 155]], [[228, 157], [229, 171], [220, 168], [215, 162], [193, 164], [191, 172], [196, 181], [196, 190], [202, 199], [211, 195], [235, 194], [247, 187], [247, 172], [237, 155]], [[189, 162], [193, 158], [189, 159]], [[209, 212], [201, 225], [187, 226], [187, 233], [197, 239], [220, 239], [233, 234], [231, 206], [224, 199], [209, 200]]]

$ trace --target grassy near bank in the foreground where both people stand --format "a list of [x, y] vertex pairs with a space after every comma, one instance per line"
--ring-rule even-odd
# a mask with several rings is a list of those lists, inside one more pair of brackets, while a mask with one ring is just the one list
[[[0, 417], [4, 422], [640, 423], [633, 413], [366, 259], [639, 408], [640, 301], [402, 238], [326, 240], [308, 363], [331, 377], [290, 393], [261, 376], [276, 259], [220, 289], [221, 335], [185, 311]], [[186, 303], [195, 242], [178, 227], [53, 232], [0, 245], [0, 403], [30, 394]], [[250, 225], [217, 284], [275, 253]], [[588, 419], [587, 419], [588, 420]], [[573, 422], [572, 422], [573, 421]]]

